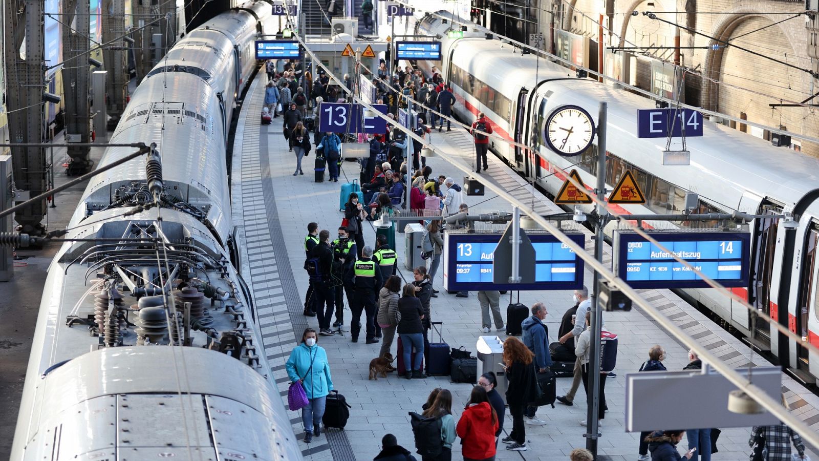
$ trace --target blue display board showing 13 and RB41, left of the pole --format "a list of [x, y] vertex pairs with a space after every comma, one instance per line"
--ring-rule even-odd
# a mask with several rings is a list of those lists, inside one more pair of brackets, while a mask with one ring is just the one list
[[[535, 247], [535, 283], [494, 284], [492, 262], [500, 234], [445, 235], [444, 288], [477, 290], [574, 290], [583, 285], [583, 260], [552, 235], [527, 233]], [[580, 246], [582, 234], [569, 234]]]

